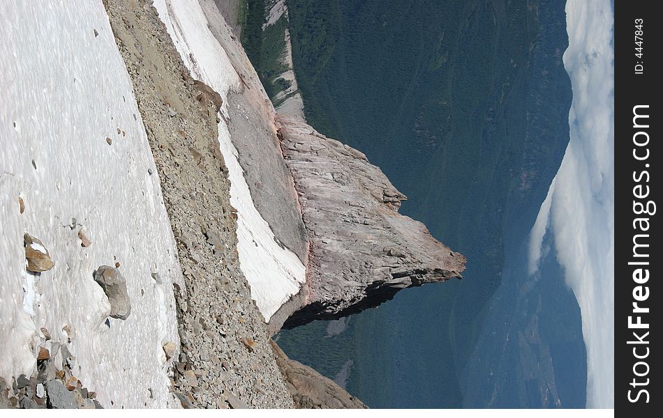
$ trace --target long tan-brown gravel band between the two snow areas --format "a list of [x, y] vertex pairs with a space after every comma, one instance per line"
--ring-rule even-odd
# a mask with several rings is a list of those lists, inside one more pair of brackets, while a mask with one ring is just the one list
[[216, 109], [147, 2], [106, 0], [161, 178], [184, 270], [174, 390], [196, 408], [292, 408], [262, 316], [239, 268], [237, 212]]

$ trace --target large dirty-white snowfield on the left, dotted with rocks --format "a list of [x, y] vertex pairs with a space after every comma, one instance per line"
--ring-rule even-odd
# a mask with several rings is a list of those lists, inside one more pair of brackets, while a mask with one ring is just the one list
[[[30, 375], [44, 345], [40, 328], [67, 343], [68, 325], [76, 377], [105, 407], [177, 407], [161, 342], [179, 341], [172, 282], [181, 283], [181, 271], [103, 3], [3, 0], [0, 16], [0, 376]], [[94, 245], [81, 247], [72, 218]], [[52, 270], [26, 272], [24, 233], [43, 242], [32, 248], [48, 249]], [[163, 285], [151, 280], [153, 260]], [[93, 272], [116, 261], [132, 313], [109, 328]]]

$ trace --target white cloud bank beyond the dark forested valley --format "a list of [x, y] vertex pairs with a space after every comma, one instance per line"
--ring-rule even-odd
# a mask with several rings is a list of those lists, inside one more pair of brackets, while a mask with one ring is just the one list
[[614, 408], [614, 52], [609, 0], [568, 0], [571, 139], [530, 235], [530, 273], [546, 230], [580, 305], [587, 406]]

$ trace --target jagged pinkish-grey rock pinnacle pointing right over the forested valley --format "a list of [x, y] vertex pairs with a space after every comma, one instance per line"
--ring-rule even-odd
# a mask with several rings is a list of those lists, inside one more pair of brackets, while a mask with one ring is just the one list
[[461, 277], [465, 257], [398, 213], [405, 196], [364, 154], [306, 123], [277, 119], [311, 244], [306, 286], [280, 314], [299, 310], [284, 327], [354, 314], [403, 288]]

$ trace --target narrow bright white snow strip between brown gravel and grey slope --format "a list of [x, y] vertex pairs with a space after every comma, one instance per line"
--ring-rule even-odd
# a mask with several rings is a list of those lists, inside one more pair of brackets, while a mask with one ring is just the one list
[[[228, 91], [231, 87], [239, 88], [239, 75], [209, 31], [198, 1], [155, 0], [154, 7], [193, 77], [221, 94], [221, 111], [227, 114]], [[230, 177], [230, 203], [237, 209], [239, 263], [251, 286], [251, 297], [269, 322], [281, 305], [299, 292], [306, 281], [305, 268], [295, 253], [276, 243], [269, 224], [255, 208], [237, 149], [230, 140], [228, 126], [221, 119], [218, 141]]]

